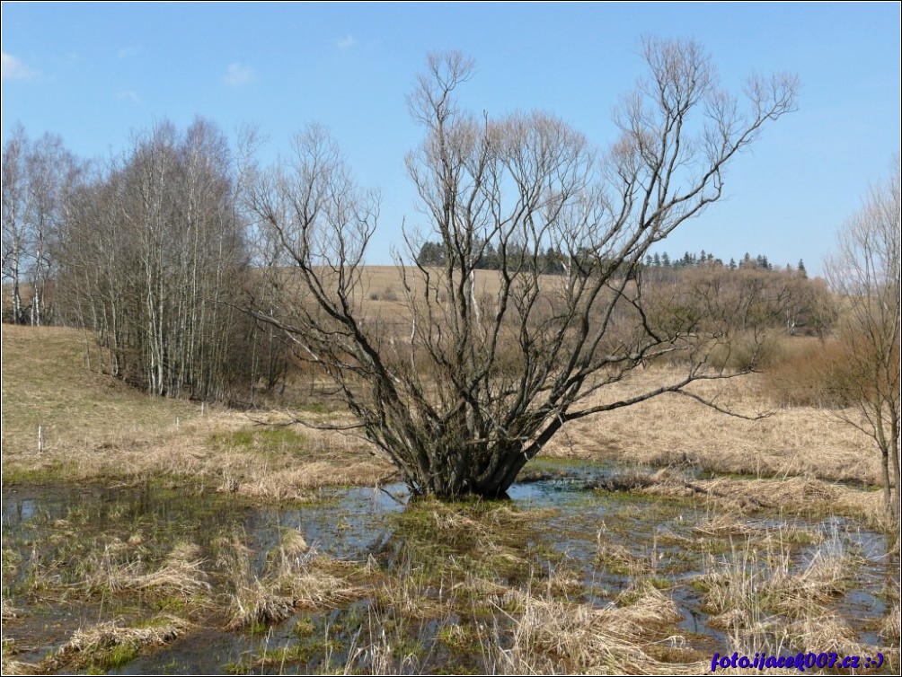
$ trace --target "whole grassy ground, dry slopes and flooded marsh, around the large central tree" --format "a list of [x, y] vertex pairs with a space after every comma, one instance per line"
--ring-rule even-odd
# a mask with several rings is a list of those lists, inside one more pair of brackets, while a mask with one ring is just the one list
[[[390, 304], [391, 270], [372, 274]], [[759, 420], [657, 398], [568, 425], [525, 469], [552, 478], [531, 498], [402, 509], [357, 437], [149, 398], [87, 371], [75, 330], [2, 338], [4, 673], [688, 674], [803, 650], [898, 667], [875, 454], [763, 377], [704, 384]]]

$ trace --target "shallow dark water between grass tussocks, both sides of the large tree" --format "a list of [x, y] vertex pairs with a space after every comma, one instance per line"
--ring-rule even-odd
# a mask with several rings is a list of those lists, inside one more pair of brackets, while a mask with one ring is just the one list
[[[538, 476], [515, 484], [509, 495], [513, 509], [535, 511], [519, 546], [539, 575], [548, 577], [559, 567], [574, 572], [581, 588], [567, 593], [567, 598], [597, 608], [611, 606], [637, 582], [651, 581], [676, 602], [681, 620], [670, 628], [671, 635], [684, 636], [688, 645], [707, 654], [729, 644], [723, 628], [713, 626], [704, 590], [695, 583], [712, 563], [726, 565], [736, 545], [745, 543], [744, 536], [700, 536], [694, 526], [712, 517], [711, 508], [691, 500], [585, 489], [618, 468], [589, 463], [537, 465]], [[409, 538], [400, 527], [403, 520], [398, 519], [405, 510], [406, 495], [401, 485], [384, 490], [324, 489], [312, 504], [259, 506], [233, 495], [192, 495], [150, 485], [5, 490], [3, 592], [20, 611], [17, 618], [5, 619], [5, 637], [14, 639], [15, 660], [38, 661], [78, 627], [98, 619], [144, 618], [159, 611], [142, 599], [122, 608], [114, 608], [107, 599], [67, 601], [66, 590], [78, 590], [80, 584], [79, 563], [98, 553], [118, 552], [116, 548], [132, 547], [146, 561], [160, 563], [173, 544], [196, 544], [216, 586], [223, 581], [216, 558], [222, 539], [240, 539], [252, 553], [253, 569], [262, 575], [268, 555], [278, 550], [285, 530], [292, 529], [329, 557], [377, 562], [391, 570], [395, 563], [391, 558], [404, 551]], [[826, 608], [846, 619], [858, 641], [885, 645], [875, 628], [888, 613], [883, 592], [897, 561], [888, 561], [884, 536], [842, 517], [754, 517], [742, 523], [758, 535], [790, 528], [810, 534], [805, 536], [810, 542], [803, 539], [791, 548], [794, 572], [815, 557], [853, 559], [853, 580]], [[442, 535], [433, 537], [440, 545]], [[458, 545], [449, 543], [449, 552]], [[35, 572], [48, 576], [55, 590], [47, 599], [41, 598]], [[521, 584], [513, 578], [503, 582]], [[214, 599], [224, 594], [217, 590]], [[430, 594], [440, 601], [444, 593]], [[386, 618], [395, 625], [386, 628]], [[384, 639], [386, 632], [399, 633], [397, 642], [427, 647], [411, 649], [407, 672], [430, 672], [430, 666], [442, 665], [477, 672], [491, 667], [480, 663], [472, 645], [462, 645], [455, 654], [453, 644], [437, 642], [437, 637], [450, 633], [449, 624], [467, 627], [476, 622], [474, 618], [428, 618], [428, 614], [415, 621], [405, 618], [399, 610], [382, 608], [377, 599], [366, 596], [336, 608], [308, 609], [282, 623], [253, 630], [226, 630], [227, 619], [212, 613], [206, 624], [192, 618], [193, 629], [187, 636], [110, 673], [369, 669], [379, 667], [373, 663], [378, 656], [361, 653], [363, 647], [373, 637]]]

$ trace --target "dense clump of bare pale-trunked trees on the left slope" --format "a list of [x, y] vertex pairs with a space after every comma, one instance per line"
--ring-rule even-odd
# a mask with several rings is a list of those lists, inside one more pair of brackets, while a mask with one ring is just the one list
[[216, 125], [138, 134], [69, 200], [60, 279], [115, 375], [156, 395], [227, 399], [252, 378], [238, 178]]

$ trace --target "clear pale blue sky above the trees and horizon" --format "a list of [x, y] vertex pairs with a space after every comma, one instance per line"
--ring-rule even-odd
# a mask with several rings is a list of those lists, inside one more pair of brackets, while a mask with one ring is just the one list
[[618, 97], [642, 75], [643, 34], [694, 38], [723, 85], [790, 71], [799, 110], [727, 175], [726, 197], [660, 251], [704, 249], [821, 270], [843, 222], [900, 147], [900, 5], [855, 4], [49, 4], [2, 8], [2, 134], [58, 133], [86, 158], [133, 131], [203, 115], [259, 125], [263, 160], [326, 124], [355, 177], [382, 192], [373, 263], [418, 222], [404, 155], [420, 138], [405, 96], [430, 50], [477, 65], [476, 111], [546, 109], [599, 148]]

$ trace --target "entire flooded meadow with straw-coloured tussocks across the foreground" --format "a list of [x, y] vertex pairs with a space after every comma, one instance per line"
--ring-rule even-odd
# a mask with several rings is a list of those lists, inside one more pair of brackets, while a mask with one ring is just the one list
[[784, 480], [787, 506], [778, 480], [528, 471], [493, 502], [5, 489], [4, 672], [693, 673], [734, 651], [897, 670], [897, 544], [810, 483]]

